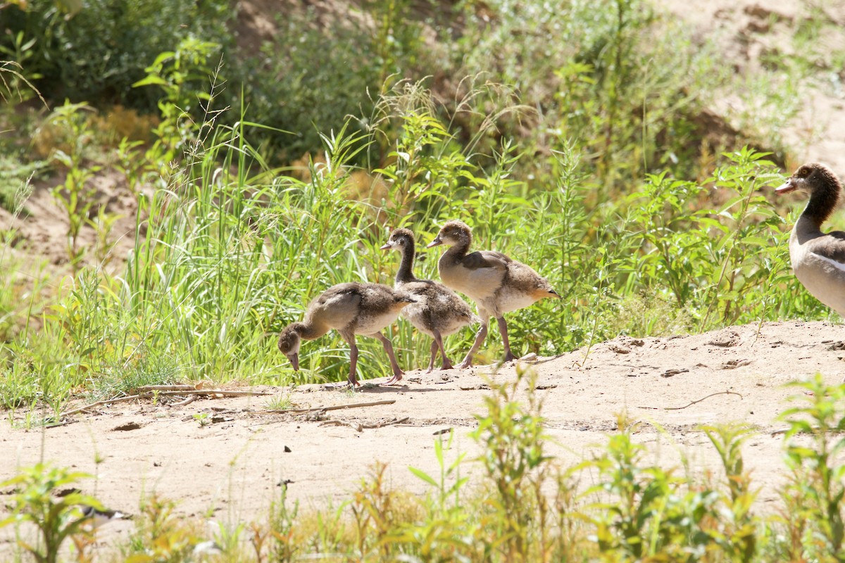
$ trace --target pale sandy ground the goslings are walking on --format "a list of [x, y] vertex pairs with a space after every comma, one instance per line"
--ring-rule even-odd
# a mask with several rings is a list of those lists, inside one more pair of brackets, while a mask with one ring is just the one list
[[[800, 394], [783, 386], [816, 373], [841, 382], [842, 338], [845, 328], [826, 322], [777, 322], [759, 332], [748, 325], [695, 336], [620, 337], [588, 354], [581, 349], [537, 359], [531, 365], [544, 400], [549, 453], [561, 467], [590, 457], [616, 428], [616, 414], [627, 411], [643, 423], [635, 437], [651, 462], [682, 470], [684, 456], [700, 476], [711, 469], [718, 474], [716, 452], [700, 425], [742, 422], [756, 430], [743, 452], [761, 488], [757, 507], [773, 511], [786, 471], [783, 436], [773, 432], [785, 428], [777, 416]], [[425, 494], [427, 485], [408, 467], [438, 474], [433, 447], [442, 430], [455, 430], [447, 460], [466, 453], [463, 473], [481, 472], [472, 461], [479, 450], [470, 433], [475, 414], [485, 412], [491, 376], [512, 381], [515, 365], [496, 375], [491, 367], [411, 371], [402, 386], [379, 387], [386, 380], [373, 380], [358, 392], [332, 385], [254, 389], [303, 409], [393, 401], [322, 413], [268, 414], [262, 396], [204, 398], [184, 407], [117, 403], [46, 430], [3, 424], [0, 475], [42, 460], [58, 463], [95, 475], [82, 489], [106, 506], [137, 512], [155, 493], [176, 500], [178, 514], [221, 522], [263, 517], [282, 483], [303, 510], [338, 506], [377, 461], [388, 464], [390, 486]], [[708, 398], [712, 393], [718, 394]], [[194, 415], [201, 414], [209, 424], [199, 425]], [[584, 482], [593, 477], [585, 474]], [[116, 522], [101, 541], [125, 539], [132, 528]], [[0, 530], [0, 553], [12, 539], [10, 528]]]

